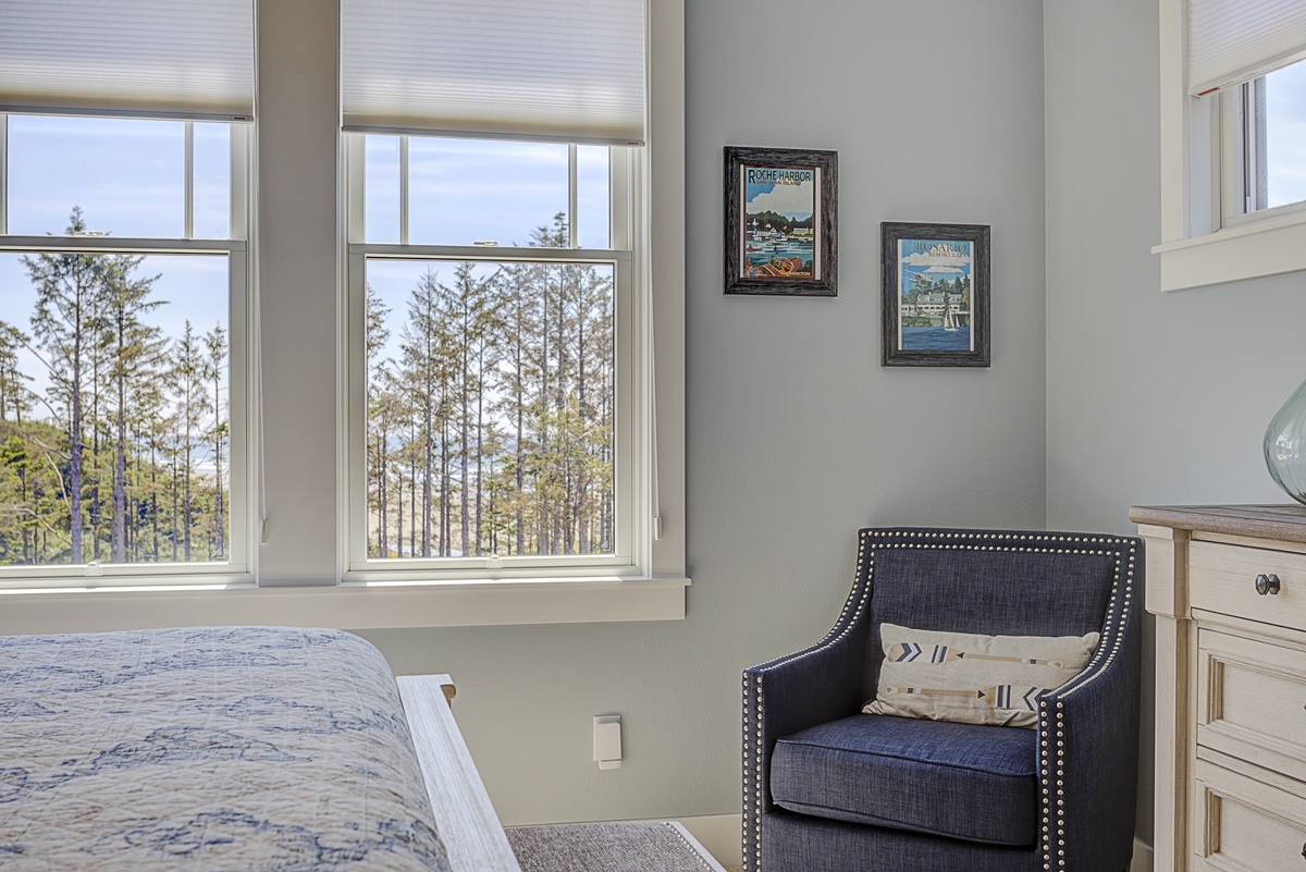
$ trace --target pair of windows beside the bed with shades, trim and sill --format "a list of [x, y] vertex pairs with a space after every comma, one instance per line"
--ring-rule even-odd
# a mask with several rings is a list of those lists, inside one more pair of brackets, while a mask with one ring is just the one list
[[[82, 563], [69, 505], [61, 556], [29, 537], [27, 563], [0, 565], [18, 576], [0, 581], [0, 632], [683, 617], [683, 3], [528, 7], [547, 7], [559, 31], [543, 38], [547, 25], [511, 0], [7, 0], [0, 320], [25, 337], [0, 335], [0, 418], [72, 429], [78, 396], [82, 437], [68, 444], [85, 450]], [[453, 16], [448, 39], [422, 37], [430, 10]], [[115, 26], [128, 12], [133, 26]], [[482, 13], [498, 23], [487, 30]], [[380, 67], [368, 67], [377, 56], [351, 54], [360, 22], [418, 38], [404, 51], [374, 43]], [[422, 64], [483, 60], [494, 46], [468, 51], [469, 39], [487, 33], [515, 63], [465, 67], [434, 97], [468, 111], [432, 112], [414, 81], [454, 80]], [[507, 81], [532, 44], [552, 67]], [[568, 72], [580, 67], [584, 81]], [[124, 137], [138, 144], [119, 148]], [[124, 349], [127, 399], [106, 381], [107, 330], [82, 354], [91, 389], [64, 388], [60, 405], [59, 385], [39, 382], [24, 258], [44, 256], [141, 290], [133, 335], [150, 354]], [[410, 317], [423, 285], [440, 330]], [[384, 309], [372, 322], [370, 299]], [[449, 330], [451, 316], [486, 329]], [[185, 356], [187, 320], [202, 379], [183, 384], [162, 368]], [[219, 334], [225, 362], [204, 341], [219, 349]], [[409, 384], [389, 390], [392, 379]], [[377, 441], [393, 422], [411, 426], [418, 399], [438, 426]], [[121, 427], [119, 409], [132, 413]], [[149, 410], [162, 459], [146, 450]], [[67, 474], [56, 479], [63, 499]], [[128, 504], [116, 514], [115, 487]], [[153, 496], [165, 513], [150, 514]], [[10, 542], [22, 553], [21, 529]]]

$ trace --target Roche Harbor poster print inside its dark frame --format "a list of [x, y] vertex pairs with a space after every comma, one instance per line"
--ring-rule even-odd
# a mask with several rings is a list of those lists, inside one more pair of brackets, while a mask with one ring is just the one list
[[741, 278], [820, 278], [820, 170], [746, 164], [741, 172]]

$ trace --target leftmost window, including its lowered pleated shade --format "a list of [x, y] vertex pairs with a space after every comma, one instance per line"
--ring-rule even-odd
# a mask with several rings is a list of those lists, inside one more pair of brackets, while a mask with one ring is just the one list
[[0, 585], [247, 577], [252, 4], [0, 30]]

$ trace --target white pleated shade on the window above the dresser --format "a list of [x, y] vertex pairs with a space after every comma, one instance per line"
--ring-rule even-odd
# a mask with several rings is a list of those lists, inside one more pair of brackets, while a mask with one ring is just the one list
[[1209, 94], [1306, 57], [1306, 0], [1188, 0], [1188, 93]]

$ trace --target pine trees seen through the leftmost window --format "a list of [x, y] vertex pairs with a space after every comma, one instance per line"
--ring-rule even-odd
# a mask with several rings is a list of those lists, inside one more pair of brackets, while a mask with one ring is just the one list
[[[67, 234], [90, 235], [80, 209]], [[0, 564], [226, 560], [227, 334], [165, 335], [144, 260], [21, 257], [35, 303], [0, 320]]]

